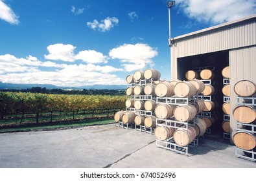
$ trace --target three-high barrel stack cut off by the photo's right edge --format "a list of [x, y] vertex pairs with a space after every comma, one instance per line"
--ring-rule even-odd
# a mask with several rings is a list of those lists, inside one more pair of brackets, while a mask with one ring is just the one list
[[256, 84], [250, 80], [240, 80], [235, 84], [234, 91], [241, 99], [238, 99], [237, 106], [233, 109], [237, 129], [231, 137], [248, 158], [256, 161]]

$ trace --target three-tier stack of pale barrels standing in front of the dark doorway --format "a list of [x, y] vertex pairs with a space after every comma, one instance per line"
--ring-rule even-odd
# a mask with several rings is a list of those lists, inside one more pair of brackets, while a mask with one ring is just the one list
[[[196, 100], [189, 103], [192, 97], [204, 90], [204, 83], [200, 80], [191, 81], [165, 81], [156, 85], [156, 95], [159, 98], [171, 98], [174, 103], [157, 103], [155, 113], [157, 122], [155, 135], [157, 140], [165, 141], [173, 137], [174, 142], [180, 146], [187, 146], [196, 138], [202, 136], [206, 131], [206, 123], [202, 119], [195, 120], [196, 114], [204, 110], [204, 102]], [[187, 103], [178, 101], [187, 99]], [[186, 124], [194, 121], [193, 124]], [[172, 121], [176, 122], [172, 125]]]

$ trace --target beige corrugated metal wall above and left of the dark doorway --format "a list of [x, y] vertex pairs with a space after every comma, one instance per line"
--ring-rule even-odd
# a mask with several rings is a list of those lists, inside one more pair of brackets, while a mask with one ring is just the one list
[[256, 16], [247, 21], [174, 37], [171, 47], [171, 79], [177, 79], [177, 59], [233, 48], [256, 45]]

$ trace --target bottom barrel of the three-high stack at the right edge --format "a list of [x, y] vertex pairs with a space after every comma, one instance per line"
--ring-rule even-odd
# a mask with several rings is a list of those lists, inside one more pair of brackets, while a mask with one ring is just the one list
[[240, 149], [251, 150], [256, 146], [255, 134], [246, 131], [246, 129], [236, 129], [235, 131], [233, 131], [231, 137], [234, 144]]

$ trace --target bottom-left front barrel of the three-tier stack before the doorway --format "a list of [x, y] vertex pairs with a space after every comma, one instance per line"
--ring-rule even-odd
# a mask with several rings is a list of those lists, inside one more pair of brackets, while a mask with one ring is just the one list
[[172, 137], [174, 133], [174, 128], [169, 127], [167, 125], [157, 125], [154, 130], [157, 140], [167, 140]]

